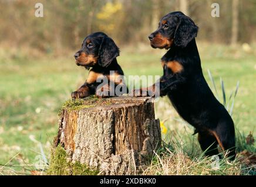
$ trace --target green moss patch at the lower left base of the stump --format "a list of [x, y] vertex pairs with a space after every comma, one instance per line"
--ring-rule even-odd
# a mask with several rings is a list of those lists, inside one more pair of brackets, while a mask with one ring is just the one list
[[56, 148], [53, 148], [50, 166], [46, 175], [97, 175], [98, 173], [99, 171], [92, 170], [85, 164], [67, 161], [65, 149], [58, 145]]

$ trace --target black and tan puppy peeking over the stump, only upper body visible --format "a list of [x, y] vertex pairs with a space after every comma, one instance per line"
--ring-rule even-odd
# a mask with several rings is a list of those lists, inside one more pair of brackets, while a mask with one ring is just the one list
[[[117, 64], [117, 56], [119, 56], [119, 48], [105, 33], [96, 32], [87, 36], [83, 40], [82, 48], [75, 54], [75, 59], [76, 65], [82, 65], [87, 70], [91, 69], [85, 84], [72, 92], [72, 98], [86, 98], [94, 94], [99, 98], [115, 96], [118, 95], [115, 92], [117, 86], [120, 92], [126, 92], [127, 87], [122, 78], [124, 74]], [[103, 79], [106, 80], [105, 84]]]

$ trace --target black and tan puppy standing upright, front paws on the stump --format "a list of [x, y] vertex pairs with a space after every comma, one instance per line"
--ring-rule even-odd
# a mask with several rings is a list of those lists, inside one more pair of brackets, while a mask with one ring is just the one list
[[[179, 115], [193, 125], [198, 141], [207, 155], [218, 154], [217, 145], [235, 158], [234, 123], [227, 110], [214, 97], [201, 68], [195, 37], [198, 27], [182, 12], [164, 16], [157, 30], [150, 34], [153, 48], [168, 49], [161, 58], [163, 76], [160, 85], [147, 92], [167, 95]], [[139, 95], [144, 89], [137, 90]]]

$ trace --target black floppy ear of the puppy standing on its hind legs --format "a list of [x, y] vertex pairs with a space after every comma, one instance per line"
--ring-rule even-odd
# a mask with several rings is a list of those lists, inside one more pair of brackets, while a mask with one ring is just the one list
[[198, 27], [188, 16], [179, 16], [179, 22], [174, 33], [174, 44], [186, 47], [187, 44], [197, 36]]

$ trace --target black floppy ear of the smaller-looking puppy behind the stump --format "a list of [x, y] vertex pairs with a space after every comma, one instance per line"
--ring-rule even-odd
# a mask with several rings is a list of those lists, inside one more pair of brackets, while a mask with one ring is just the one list
[[117, 56], [119, 56], [119, 48], [114, 41], [110, 37], [103, 37], [99, 48], [99, 65], [107, 67]]

